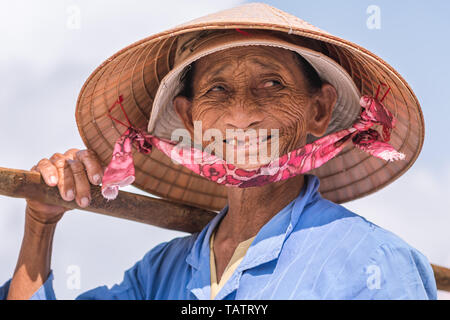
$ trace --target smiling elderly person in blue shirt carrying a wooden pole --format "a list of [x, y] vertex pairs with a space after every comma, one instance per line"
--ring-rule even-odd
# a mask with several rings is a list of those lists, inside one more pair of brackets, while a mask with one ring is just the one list
[[[242, 30], [245, 23], [239, 25], [233, 20], [236, 12], [239, 17], [235, 19], [258, 27]], [[254, 22], [255, 12], [264, 16], [261, 24]], [[285, 20], [277, 23], [289, 32], [268, 31], [268, 20], [280, 14]], [[215, 25], [217, 16], [222, 18], [218, 21], [233, 20], [229, 25], [236, 28]], [[342, 150], [347, 155], [368, 153], [370, 161], [373, 157], [384, 159], [377, 163], [405, 157], [409, 161], [407, 150], [405, 155], [387, 143], [395, 119], [389, 107], [381, 103], [383, 99], [377, 93], [359, 101], [362, 89], [356, 88], [355, 75], [343, 71], [344, 63], [338, 65], [323, 52], [319, 54], [322, 49], [314, 53], [312, 47], [318, 40], [298, 36], [295, 43], [288, 41], [301, 29], [295, 24], [304, 24], [295, 17], [266, 5], [250, 4], [207, 18], [200, 22], [214, 25], [211, 29], [216, 31], [181, 35], [174, 55], [167, 50], [168, 61], [174, 59], [175, 66], [163, 74], [161, 83], [158, 81], [151, 116], [146, 119], [150, 134], [130, 129], [138, 119], [134, 116], [129, 130], [122, 130], [106, 170], [98, 146], [56, 153], [33, 167], [48, 185], [58, 187], [64, 200], [75, 200], [87, 207], [90, 184], [103, 181], [105, 197], [113, 199], [118, 186], [126, 184], [125, 180], [134, 181], [134, 167], [131, 174], [129, 171], [132, 153], [127, 148], [136, 143], [145, 154], [153, 148], [151, 154], [161, 151], [159, 156], [178, 157], [179, 164], [171, 164], [178, 171], [192, 170], [195, 178], [209, 179], [210, 188], [217, 187], [226, 194], [225, 207], [201, 232], [158, 245], [125, 272], [122, 282], [112, 288], [92, 289], [78, 298], [435, 299], [436, 285], [426, 257], [389, 231], [325, 199], [319, 193], [318, 176], [307, 174], [316, 169], [315, 173], [325, 176], [324, 171], [317, 170], [333, 170], [341, 165], [348, 173], [342, 174], [341, 170], [329, 176], [342, 182], [346, 176], [358, 175], [355, 172], [364, 173], [362, 168], [351, 171], [355, 164], [339, 164], [338, 158], [333, 159]], [[325, 37], [310, 25], [302, 28], [311, 28], [311, 34]], [[331, 50], [328, 53], [332, 55]], [[376, 63], [381, 66], [384, 62]], [[372, 87], [377, 85], [373, 83]], [[89, 85], [86, 88], [83, 90], [89, 91]], [[79, 108], [84, 94], [88, 95], [82, 93]], [[124, 111], [127, 109], [127, 98], [121, 96], [118, 103]], [[345, 106], [353, 107], [342, 109]], [[122, 120], [133, 118], [130, 110], [128, 107], [128, 115]], [[79, 112], [79, 126], [87, 127], [83, 111]], [[395, 115], [402, 116], [400, 111]], [[114, 119], [118, 120], [117, 116]], [[183, 128], [195, 140], [196, 123], [201, 123], [202, 134], [214, 129], [226, 137], [227, 130], [276, 129], [279, 135], [257, 135], [254, 141], [225, 138], [219, 141], [224, 153], [209, 155], [198, 151], [198, 146], [183, 149], [167, 136]], [[271, 149], [277, 149], [278, 156], [251, 162], [250, 155], [260, 152], [252, 149], [252, 142], [259, 146], [263, 140]], [[207, 144], [202, 141], [201, 147]], [[213, 160], [193, 165], [183, 158], [182, 150], [201, 152]], [[243, 151], [244, 161], [230, 160], [230, 150]], [[265, 173], [262, 168], [267, 169]], [[396, 167], [391, 167], [390, 172], [396, 172], [392, 168]], [[139, 171], [136, 179], [142, 175]], [[155, 193], [163, 195], [162, 186], [159, 188]], [[333, 199], [343, 202], [379, 188], [365, 191], [357, 186], [347, 198], [337, 191], [330, 192], [333, 195], [327, 198], [335, 196]], [[163, 196], [177, 200], [170, 193]], [[201, 200], [190, 198], [184, 202], [195, 205], [195, 201]], [[206, 202], [197, 204], [208, 207]], [[2, 288], [3, 298], [55, 298], [50, 265], [52, 240], [65, 211], [63, 207], [27, 200], [23, 244], [14, 276]]]

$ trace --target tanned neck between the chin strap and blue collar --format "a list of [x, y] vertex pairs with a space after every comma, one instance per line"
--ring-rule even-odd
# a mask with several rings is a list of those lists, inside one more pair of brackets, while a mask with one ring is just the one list
[[215, 238], [240, 243], [255, 236], [281, 209], [300, 193], [303, 175], [269, 183], [262, 187], [227, 188], [228, 212], [220, 222]]

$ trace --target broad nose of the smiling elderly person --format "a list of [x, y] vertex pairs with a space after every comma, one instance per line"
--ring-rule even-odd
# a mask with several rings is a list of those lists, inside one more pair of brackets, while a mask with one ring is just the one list
[[256, 108], [245, 106], [230, 107], [223, 118], [226, 128], [250, 129], [255, 128], [264, 119], [264, 114]]

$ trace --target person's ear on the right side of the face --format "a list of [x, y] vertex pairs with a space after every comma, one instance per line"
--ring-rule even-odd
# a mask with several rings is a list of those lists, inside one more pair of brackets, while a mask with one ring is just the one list
[[319, 92], [313, 96], [313, 103], [307, 119], [307, 130], [309, 133], [316, 137], [321, 137], [325, 134], [336, 101], [336, 89], [332, 85], [324, 83]]

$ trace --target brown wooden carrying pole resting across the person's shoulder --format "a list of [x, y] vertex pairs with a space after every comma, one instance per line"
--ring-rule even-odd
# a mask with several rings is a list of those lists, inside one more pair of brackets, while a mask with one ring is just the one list
[[[81, 208], [75, 201], [63, 200], [58, 188], [48, 186], [40, 173], [2, 167], [0, 167], [0, 194], [34, 199], [47, 204], [91, 211], [188, 233], [202, 230], [216, 215], [208, 210], [125, 191], [119, 191], [116, 199], [107, 201], [101, 194], [101, 188], [94, 185], [91, 185], [91, 204], [87, 208]], [[438, 289], [450, 291], [450, 269], [431, 266]]]

